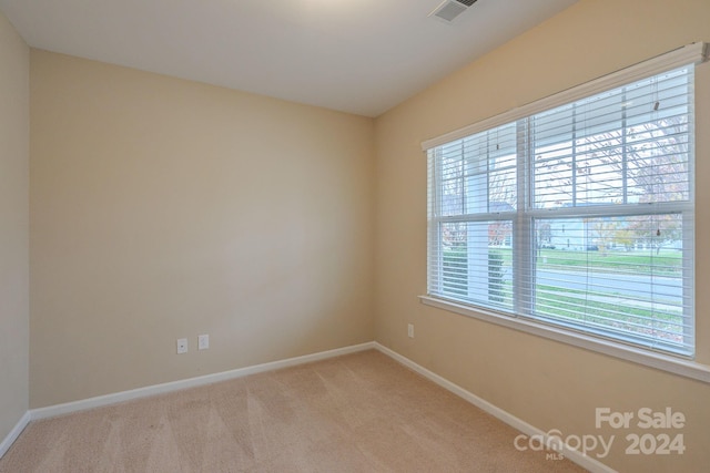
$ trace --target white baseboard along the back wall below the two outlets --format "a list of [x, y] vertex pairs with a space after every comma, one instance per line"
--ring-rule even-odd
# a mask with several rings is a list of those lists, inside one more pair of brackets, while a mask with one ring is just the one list
[[374, 348], [375, 348], [375, 342], [371, 341], [366, 343], [354, 345], [351, 347], [337, 348], [335, 350], [305, 354], [303, 357], [288, 358], [285, 360], [273, 361], [270, 363], [255, 364], [253, 367], [246, 367], [246, 368], [239, 368], [236, 370], [223, 371], [223, 372], [213, 373], [213, 374], [205, 374], [202, 377], [189, 378], [189, 379], [166, 382], [162, 384], [154, 384], [145, 388], [132, 389], [130, 391], [115, 392], [112, 394], [99, 395], [97, 398], [89, 398], [80, 401], [67, 402], [63, 404], [49, 405], [47, 408], [32, 409], [30, 411], [30, 418], [33, 421], [38, 419], [53, 418], [57, 415], [85, 411], [88, 409], [100, 408], [102, 405], [111, 405], [119, 402], [130, 401], [133, 399], [146, 398], [149, 395], [180, 391], [187, 388], [195, 388], [200, 385], [212, 384], [220, 381], [226, 381], [235, 378], [243, 378], [250, 374], [262, 373], [265, 371], [273, 371], [282, 368], [294, 367], [297, 364], [310, 363], [313, 361], [325, 360], [328, 358], [355, 353], [364, 350], [371, 350]]

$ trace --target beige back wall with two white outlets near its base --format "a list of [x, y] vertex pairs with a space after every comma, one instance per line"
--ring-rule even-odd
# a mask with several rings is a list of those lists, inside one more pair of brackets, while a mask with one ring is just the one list
[[31, 408], [373, 340], [373, 120], [37, 50], [30, 83]]

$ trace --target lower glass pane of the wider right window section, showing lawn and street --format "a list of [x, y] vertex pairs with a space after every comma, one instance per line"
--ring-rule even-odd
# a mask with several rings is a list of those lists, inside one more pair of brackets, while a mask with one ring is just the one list
[[642, 345], [687, 341], [681, 215], [537, 219], [535, 228], [535, 316]]

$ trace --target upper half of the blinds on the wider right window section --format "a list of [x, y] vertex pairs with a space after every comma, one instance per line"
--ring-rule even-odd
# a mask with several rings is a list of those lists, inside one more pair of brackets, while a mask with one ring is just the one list
[[688, 200], [692, 68], [534, 115], [537, 208]]

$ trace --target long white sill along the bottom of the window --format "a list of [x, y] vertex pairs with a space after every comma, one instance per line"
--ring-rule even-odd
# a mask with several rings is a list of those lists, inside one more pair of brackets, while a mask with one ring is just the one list
[[567, 331], [560, 328], [534, 323], [527, 320], [506, 317], [493, 311], [473, 309], [470, 307], [438, 299], [430, 296], [419, 296], [422, 304], [447, 310], [462, 316], [473, 317], [478, 320], [511, 328], [526, 333], [544, 337], [550, 340], [584, 348], [586, 350], [631, 361], [633, 363], [668, 371], [684, 378], [710, 383], [710, 367], [691, 360], [681, 360], [668, 354], [657, 353], [640, 348], [629, 347], [609, 340], [597, 339], [581, 333]]

